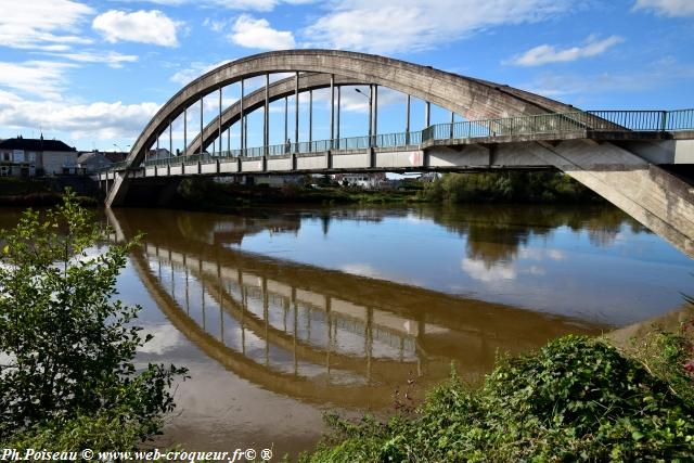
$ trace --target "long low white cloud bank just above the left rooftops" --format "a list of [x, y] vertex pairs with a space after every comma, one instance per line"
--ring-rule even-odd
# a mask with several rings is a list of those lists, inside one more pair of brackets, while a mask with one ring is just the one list
[[0, 91], [0, 125], [8, 128], [62, 131], [73, 139], [134, 139], [158, 111], [156, 103], [95, 102], [70, 104], [55, 100], [26, 100]]

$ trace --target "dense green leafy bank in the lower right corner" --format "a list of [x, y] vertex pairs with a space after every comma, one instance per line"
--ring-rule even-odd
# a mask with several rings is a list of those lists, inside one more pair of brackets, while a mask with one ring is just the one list
[[[303, 462], [684, 461], [694, 458], [694, 311], [659, 326], [566, 336], [502, 358], [479, 388], [454, 373], [417, 408], [348, 422]], [[404, 396], [407, 397], [407, 395]]]

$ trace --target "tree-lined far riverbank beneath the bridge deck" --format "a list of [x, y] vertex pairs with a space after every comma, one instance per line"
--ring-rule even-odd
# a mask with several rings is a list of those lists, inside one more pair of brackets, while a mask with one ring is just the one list
[[425, 183], [403, 180], [397, 188], [363, 189], [329, 179], [290, 183], [280, 188], [222, 183], [214, 179], [185, 179], [178, 189], [178, 207], [228, 210], [257, 204], [414, 204], [414, 203], [604, 203], [570, 177], [550, 171], [445, 173]]

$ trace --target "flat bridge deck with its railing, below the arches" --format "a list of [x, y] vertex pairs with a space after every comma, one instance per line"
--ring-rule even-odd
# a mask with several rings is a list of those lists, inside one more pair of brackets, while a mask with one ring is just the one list
[[[491, 166], [538, 168], [550, 166], [530, 153], [524, 155], [524, 143], [578, 139], [599, 142], [692, 139], [692, 129], [694, 110], [575, 112], [496, 118], [438, 124], [422, 131], [203, 152], [145, 160], [137, 167], [118, 163], [100, 172], [100, 180], [113, 178], [115, 171], [124, 170], [131, 172], [131, 177], [144, 178], [296, 171], [446, 170]], [[461, 156], [463, 152], [465, 155]]]

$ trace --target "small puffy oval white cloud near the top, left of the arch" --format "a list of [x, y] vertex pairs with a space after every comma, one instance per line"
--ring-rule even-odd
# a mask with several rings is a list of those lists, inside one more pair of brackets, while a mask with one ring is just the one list
[[110, 42], [131, 41], [163, 47], [178, 46], [178, 26], [180, 23], [158, 10], [140, 10], [133, 13], [111, 10], [92, 22], [92, 27]]

